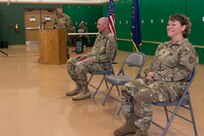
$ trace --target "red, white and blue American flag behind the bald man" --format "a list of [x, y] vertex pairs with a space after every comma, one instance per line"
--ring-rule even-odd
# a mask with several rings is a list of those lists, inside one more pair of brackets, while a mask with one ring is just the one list
[[115, 16], [114, 16], [114, 0], [109, 0], [109, 4], [108, 4], [108, 21], [109, 21], [109, 30], [116, 37]]

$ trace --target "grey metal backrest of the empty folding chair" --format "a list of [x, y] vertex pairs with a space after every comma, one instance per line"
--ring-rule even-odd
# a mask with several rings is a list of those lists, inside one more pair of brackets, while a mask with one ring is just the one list
[[138, 68], [137, 75], [135, 76], [135, 78], [138, 78], [140, 77], [140, 72], [142, 70], [142, 67], [144, 66], [144, 63], [145, 63], [145, 55], [143, 53], [141, 52], [131, 53], [127, 56], [127, 58], [123, 62], [118, 75], [120, 74], [125, 75], [124, 66], [128, 65], [129, 67]]

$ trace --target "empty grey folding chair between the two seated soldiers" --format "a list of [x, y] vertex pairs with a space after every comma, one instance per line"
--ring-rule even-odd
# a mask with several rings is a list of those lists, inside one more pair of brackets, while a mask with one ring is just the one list
[[[110, 92], [115, 85], [117, 87], [118, 94], [120, 95], [120, 91], [118, 86], [124, 85], [125, 83], [135, 80], [136, 78], [139, 78], [140, 72], [142, 70], [142, 67], [145, 63], [145, 55], [143, 53], [131, 53], [128, 55], [128, 57], [123, 62], [119, 72], [117, 75], [106, 75], [105, 81], [112, 84], [110, 89], [108, 90], [108, 93], [103, 101], [103, 105], [105, 104], [108, 96], [110, 95]], [[132, 76], [132, 73], [127, 73], [127, 68], [125, 66], [129, 66], [132, 68], [137, 69], [136, 76]], [[130, 75], [131, 74], [131, 75]]]

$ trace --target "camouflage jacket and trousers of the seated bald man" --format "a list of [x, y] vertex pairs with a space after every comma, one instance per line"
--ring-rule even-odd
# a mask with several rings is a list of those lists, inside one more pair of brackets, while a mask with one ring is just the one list
[[116, 42], [111, 33], [100, 34], [94, 43], [92, 51], [87, 55], [93, 61], [84, 62], [71, 58], [67, 61], [67, 70], [72, 80], [79, 86], [87, 87], [87, 73], [94, 70], [104, 70], [108, 67], [109, 62], [113, 58]]

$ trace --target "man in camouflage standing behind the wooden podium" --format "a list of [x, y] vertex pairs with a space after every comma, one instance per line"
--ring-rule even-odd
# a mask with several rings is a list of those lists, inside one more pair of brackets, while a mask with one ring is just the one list
[[[73, 33], [73, 24], [71, 18], [63, 13], [63, 7], [58, 6], [57, 8], [57, 16], [54, 20], [54, 28], [56, 29], [62, 29], [67, 33]], [[68, 43], [70, 45], [71, 38], [67, 37]], [[67, 47], [67, 57], [69, 58], [69, 48]]]

